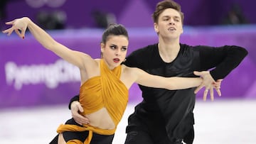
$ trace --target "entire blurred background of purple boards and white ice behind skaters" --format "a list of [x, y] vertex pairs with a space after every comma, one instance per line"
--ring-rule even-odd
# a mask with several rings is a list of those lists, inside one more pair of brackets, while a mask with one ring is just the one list
[[[250, 135], [256, 135], [255, 123], [250, 121], [256, 120], [255, 1], [176, 1], [181, 4], [185, 15], [181, 43], [239, 45], [249, 52], [245, 60], [224, 79], [221, 87], [223, 96], [215, 94], [214, 102], [204, 102], [203, 90], [197, 94], [196, 122], [201, 125], [196, 123], [196, 143], [209, 143], [210, 139], [213, 143], [253, 143], [255, 140]], [[157, 43], [151, 13], [158, 2], [1, 0], [0, 30], [9, 28], [4, 24], [6, 21], [28, 16], [55, 40], [97, 58], [100, 57], [104, 28], [109, 23], [122, 23], [129, 31], [130, 53]], [[29, 32], [24, 40], [16, 35], [8, 37], [1, 33], [0, 143], [50, 141], [58, 124], [70, 118], [68, 102], [78, 94], [79, 87], [78, 68], [42, 48]], [[129, 109], [116, 134], [120, 136], [115, 136], [114, 143], [124, 140], [127, 116], [133, 112], [134, 104], [142, 100], [136, 84], [129, 92]], [[42, 124], [44, 121], [46, 124]], [[37, 126], [43, 131], [35, 133], [39, 131], [35, 129]], [[21, 135], [23, 130], [26, 133]], [[224, 132], [226, 136], [221, 134]], [[211, 135], [213, 133], [215, 136]]]

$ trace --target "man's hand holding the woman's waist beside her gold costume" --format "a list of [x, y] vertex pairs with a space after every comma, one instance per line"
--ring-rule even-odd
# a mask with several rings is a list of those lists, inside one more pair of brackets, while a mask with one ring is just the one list
[[83, 112], [82, 106], [79, 103], [79, 101], [73, 101], [71, 103], [71, 113], [72, 117], [74, 118], [75, 122], [82, 125], [82, 124], [88, 124], [90, 123], [89, 119], [85, 116], [82, 116], [80, 112]]

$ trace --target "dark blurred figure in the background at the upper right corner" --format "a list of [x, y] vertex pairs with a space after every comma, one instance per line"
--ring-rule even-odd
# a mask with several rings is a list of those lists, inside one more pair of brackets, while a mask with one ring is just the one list
[[237, 24], [245, 24], [248, 23], [247, 18], [239, 4], [233, 4], [231, 6], [230, 11], [228, 11], [227, 16], [225, 16], [223, 20], [224, 25], [237, 25]]

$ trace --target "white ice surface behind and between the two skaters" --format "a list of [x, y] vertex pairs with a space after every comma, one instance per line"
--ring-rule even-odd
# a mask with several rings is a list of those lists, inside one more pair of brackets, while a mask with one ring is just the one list
[[[127, 117], [134, 111], [128, 104], [119, 123], [113, 144], [122, 144], [126, 138]], [[197, 101], [194, 110], [195, 144], [254, 144], [256, 135], [256, 101], [210, 100]], [[0, 143], [46, 144], [56, 135], [56, 128], [71, 114], [67, 106], [0, 110]]]

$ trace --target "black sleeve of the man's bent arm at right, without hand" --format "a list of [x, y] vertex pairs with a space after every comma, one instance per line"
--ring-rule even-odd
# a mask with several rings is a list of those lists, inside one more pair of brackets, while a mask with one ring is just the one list
[[203, 70], [210, 70], [213, 79], [224, 79], [247, 55], [245, 48], [235, 45], [225, 45], [223, 47], [200, 49], [201, 67]]

